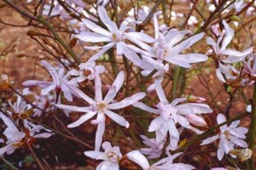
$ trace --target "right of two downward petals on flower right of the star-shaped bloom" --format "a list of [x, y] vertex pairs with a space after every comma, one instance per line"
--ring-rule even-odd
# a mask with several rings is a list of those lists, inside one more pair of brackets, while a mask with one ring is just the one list
[[179, 133], [177, 131], [177, 127], [175, 126], [175, 123], [173, 120], [168, 120], [168, 130], [170, 134], [170, 145], [172, 150], [177, 149], [177, 143], [179, 140]]

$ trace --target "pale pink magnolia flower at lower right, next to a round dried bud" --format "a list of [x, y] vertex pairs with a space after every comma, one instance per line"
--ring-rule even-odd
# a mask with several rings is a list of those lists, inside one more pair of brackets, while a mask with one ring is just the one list
[[[225, 116], [223, 114], [218, 114], [217, 122], [218, 124], [226, 122]], [[226, 124], [219, 127], [220, 132], [215, 136], [204, 139], [201, 145], [210, 144], [213, 141], [219, 139], [217, 151], [219, 161], [222, 160], [224, 153], [229, 154], [230, 150], [234, 150], [235, 145], [246, 148], [247, 143], [242, 139], [246, 139], [245, 133], [247, 133], [248, 130], [246, 127], [237, 127], [239, 123], [240, 121], [238, 120], [232, 122], [230, 127], [228, 127]], [[231, 156], [236, 157], [234, 155]]]

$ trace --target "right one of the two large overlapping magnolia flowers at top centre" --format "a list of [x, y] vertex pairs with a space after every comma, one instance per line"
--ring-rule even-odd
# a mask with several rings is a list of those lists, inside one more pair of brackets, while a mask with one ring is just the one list
[[[128, 45], [129, 48], [136, 51], [139, 54], [143, 54], [148, 57], [157, 59], [159, 62], [166, 60], [173, 65], [179, 65], [184, 68], [190, 68], [191, 63], [198, 63], [201, 61], [206, 61], [208, 59], [205, 54], [180, 54], [183, 49], [189, 48], [195, 42], [199, 41], [204, 33], [197, 34], [195, 36], [189, 37], [183, 40], [183, 37], [187, 34], [191, 34], [188, 30], [177, 31], [172, 29], [166, 34], [163, 34], [159, 30], [158, 21], [154, 15], [154, 45], [153, 47], [148, 46], [145, 42], [148, 40], [141, 37], [131, 37], [132, 34], [126, 35], [129, 37], [131, 42], [136, 43], [140, 48], [133, 45]], [[179, 43], [180, 42], [180, 43]]]

